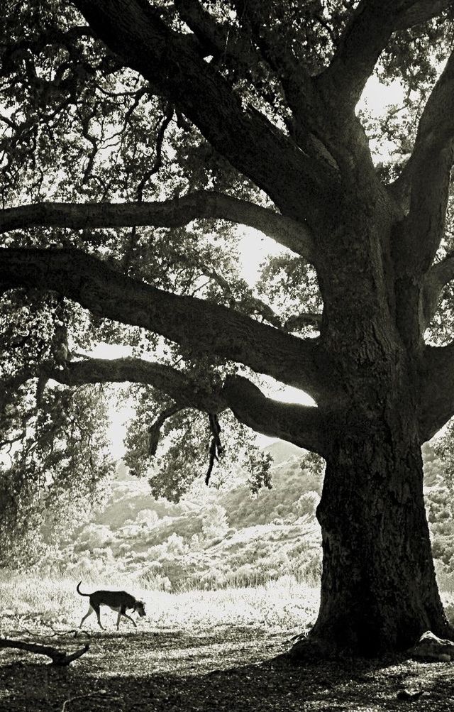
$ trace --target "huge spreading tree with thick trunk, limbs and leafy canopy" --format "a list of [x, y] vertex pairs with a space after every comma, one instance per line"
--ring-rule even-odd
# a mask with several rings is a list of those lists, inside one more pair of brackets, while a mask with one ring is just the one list
[[[320, 613], [297, 651], [452, 634], [421, 463], [454, 412], [438, 317], [454, 275], [452, 5], [4, 2], [2, 291], [46, 290], [88, 310], [93, 337], [134, 344], [58, 362], [46, 343], [9, 388], [27, 374], [152, 386], [151, 452], [193, 408], [322, 455]], [[400, 132], [396, 108], [379, 125], [355, 112], [374, 70], [401, 78]], [[396, 142], [375, 166], [377, 131]], [[265, 274], [272, 301], [238, 274], [234, 224], [287, 248]], [[253, 374], [317, 407], [268, 399]]]

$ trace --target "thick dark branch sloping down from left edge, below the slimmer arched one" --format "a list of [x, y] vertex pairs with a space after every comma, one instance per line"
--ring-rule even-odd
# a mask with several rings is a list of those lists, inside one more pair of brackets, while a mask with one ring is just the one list
[[195, 354], [243, 363], [314, 399], [320, 393], [314, 340], [222, 305], [157, 289], [81, 250], [0, 250], [0, 291], [21, 287], [54, 290], [100, 317], [152, 330]]

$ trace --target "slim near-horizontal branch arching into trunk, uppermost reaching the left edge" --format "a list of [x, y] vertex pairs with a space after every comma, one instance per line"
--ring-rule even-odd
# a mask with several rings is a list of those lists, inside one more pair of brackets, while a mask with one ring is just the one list
[[309, 229], [290, 218], [247, 200], [197, 191], [172, 200], [140, 203], [38, 203], [0, 211], [0, 233], [32, 226], [71, 229], [149, 225], [178, 227], [196, 219], [229, 220], [255, 228], [312, 261]]

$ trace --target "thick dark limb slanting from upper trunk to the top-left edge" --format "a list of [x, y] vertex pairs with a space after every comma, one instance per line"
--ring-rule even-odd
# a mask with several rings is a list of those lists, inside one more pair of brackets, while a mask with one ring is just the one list
[[[323, 219], [326, 174], [260, 112], [243, 108], [226, 78], [139, 0], [73, 0], [102, 41], [199, 128], [283, 214]], [[200, 98], [204, 100], [201, 101]], [[260, 150], [257, 150], [260, 147]]]

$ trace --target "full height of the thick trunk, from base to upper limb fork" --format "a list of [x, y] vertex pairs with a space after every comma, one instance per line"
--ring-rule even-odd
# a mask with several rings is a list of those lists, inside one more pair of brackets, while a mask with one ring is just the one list
[[[418, 283], [411, 282], [396, 305], [386, 248], [393, 219], [381, 207], [377, 215], [344, 216], [337, 244], [350, 248], [333, 249], [322, 278], [322, 348], [342, 385], [334, 384], [331, 401], [319, 403], [332, 423], [317, 509], [321, 602], [315, 627], [294, 646], [295, 655], [318, 649], [380, 656], [408, 649], [426, 630], [453, 637], [423, 501]], [[356, 255], [354, 234], [364, 236]], [[336, 269], [342, 279], [332, 278]]]

